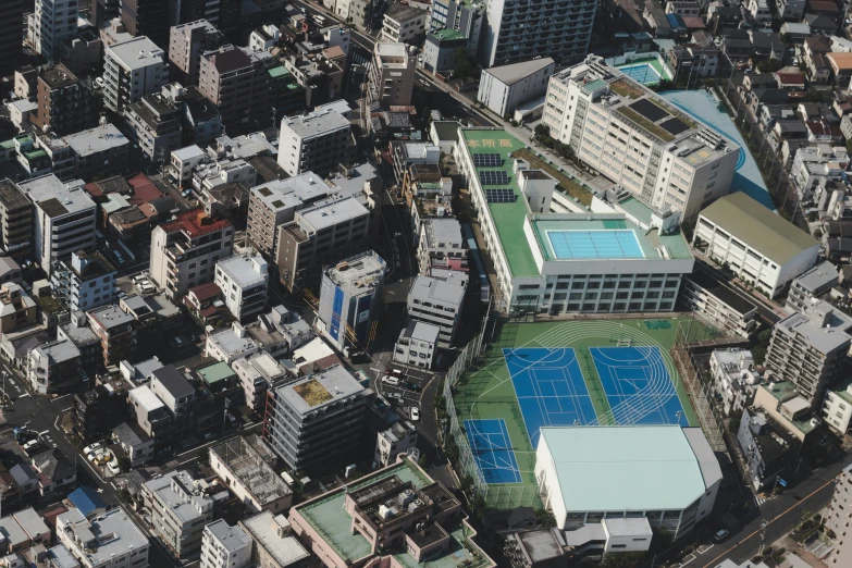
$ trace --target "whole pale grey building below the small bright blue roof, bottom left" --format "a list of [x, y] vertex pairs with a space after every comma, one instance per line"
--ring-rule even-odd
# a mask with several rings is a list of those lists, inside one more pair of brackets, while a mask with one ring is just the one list
[[151, 543], [121, 507], [92, 519], [79, 509], [63, 513], [57, 517], [57, 538], [84, 568], [148, 565]]

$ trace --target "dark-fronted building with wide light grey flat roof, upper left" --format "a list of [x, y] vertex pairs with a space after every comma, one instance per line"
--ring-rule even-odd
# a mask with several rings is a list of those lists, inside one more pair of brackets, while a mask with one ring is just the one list
[[[90, 180], [125, 173], [131, 141], [112, 123], [70, 134], [62, 138], [74, 156], [74, 176]], [[59, 174], [57, 174], [59, 175]]]

